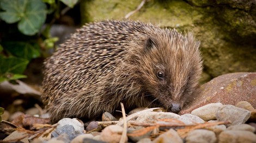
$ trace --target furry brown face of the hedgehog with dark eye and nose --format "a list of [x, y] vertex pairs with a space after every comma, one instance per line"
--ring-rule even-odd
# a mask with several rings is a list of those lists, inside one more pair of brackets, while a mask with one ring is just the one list
[[141, 77], [152, 102], [178, 113], [202, 73], [199, 43], [190, 35], [169, 37], [174, 40], [164, 38], [167, 37], [150, 37], [146, 41]]

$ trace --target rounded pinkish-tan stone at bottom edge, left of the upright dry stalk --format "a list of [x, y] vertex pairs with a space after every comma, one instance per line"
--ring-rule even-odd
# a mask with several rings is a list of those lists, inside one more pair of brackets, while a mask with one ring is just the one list
[[[119, 142], [123, 133], [123, 127], [118, 125], [109, 125], [103, 129], [100, 134], [100, 140], [105, 142]], [[126, 142], [128, 138], [126, 137]]]

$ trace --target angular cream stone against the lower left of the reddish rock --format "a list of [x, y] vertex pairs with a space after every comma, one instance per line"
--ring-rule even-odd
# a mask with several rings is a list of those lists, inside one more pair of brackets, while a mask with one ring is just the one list
[[194, 109], [191, 114], [197, 115], [205, 121], [216, 120], [216, 112], [222, 107], [222, 103], [210, 103], [200, 108]]

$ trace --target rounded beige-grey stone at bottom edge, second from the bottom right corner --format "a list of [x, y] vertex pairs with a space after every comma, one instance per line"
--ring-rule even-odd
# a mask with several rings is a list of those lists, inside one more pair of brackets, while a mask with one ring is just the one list
[[186, 137], [186, 143], [214, 143], [216, 140], [215, 133], [207, 129], [193, 130]]

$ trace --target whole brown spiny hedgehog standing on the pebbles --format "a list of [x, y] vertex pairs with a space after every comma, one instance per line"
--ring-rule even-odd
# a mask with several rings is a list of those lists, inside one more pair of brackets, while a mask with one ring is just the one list
[[46, 59], [42, 101], [52, 122], [95, 119], [120, 102], [179, 113], [202, 73], [199, 45], [191, 32], [150, 23], [86, 24]]

